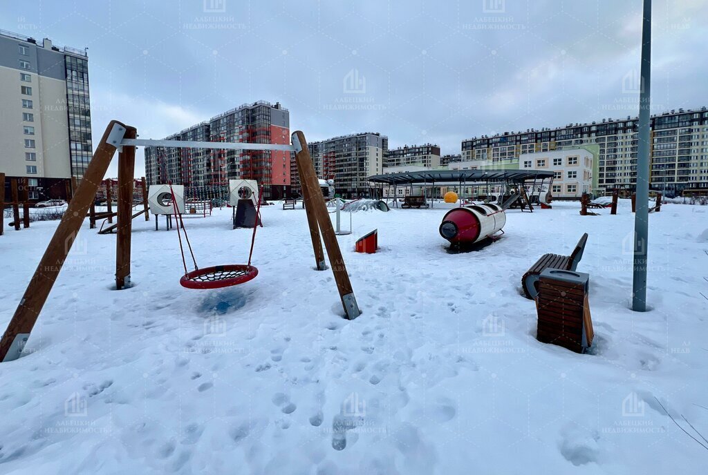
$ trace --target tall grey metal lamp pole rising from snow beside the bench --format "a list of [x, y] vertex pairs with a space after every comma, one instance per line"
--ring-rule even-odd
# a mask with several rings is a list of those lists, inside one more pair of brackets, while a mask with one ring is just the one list
[[646, 311], [646, 259], [649, 244], [649, 100], [651, 83], [651, 0], [644, 0], [641, 28], [639, 143], [636, 153], [636, 213], [634, 215], [634, 276], [632, 310]]

